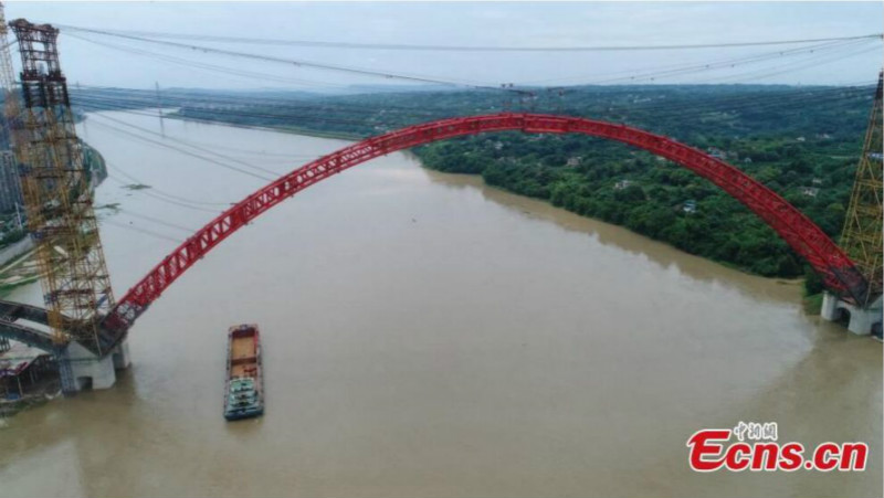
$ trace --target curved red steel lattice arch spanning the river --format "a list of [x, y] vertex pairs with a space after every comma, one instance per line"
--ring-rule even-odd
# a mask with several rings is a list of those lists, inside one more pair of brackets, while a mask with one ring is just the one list
[[698, 149], [638, 128], [570, 116], [493, 114], [409, 126], [352, 144], [263, 187], [209, 222], [131, 287], [105, 317], [102, 350], [119, 342], [133, 322], [197, 261], [233, 232], [314, 183], [398, 150], [465, 135], [520, 130], [582, 134], [617, 140], [676, 162], [720, 187], [770, 225], [835, 290], [863, 296], [866, 283], [853, 262], [810, 219], [737, 168]]

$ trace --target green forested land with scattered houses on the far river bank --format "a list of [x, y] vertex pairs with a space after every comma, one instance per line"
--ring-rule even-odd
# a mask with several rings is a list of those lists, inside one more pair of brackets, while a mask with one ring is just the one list
[[[275, 96], [272, 105], [264, 97], [229, 106], [197, 103], [182, 106], [179, 115], [354, 138], [501, 110], [622, 123], [726, 160], [838, 240], [872, 95], [872, 87], [781, 85], [399, 92], [291, 102]], [[705, 179], [639, 149], [583, 136], [499, 133], [434, 142], [414, 153], [428, 168], [481, 174], [491, 186], [754, 274], [809, 275], [807, 265], [748, 209]]]

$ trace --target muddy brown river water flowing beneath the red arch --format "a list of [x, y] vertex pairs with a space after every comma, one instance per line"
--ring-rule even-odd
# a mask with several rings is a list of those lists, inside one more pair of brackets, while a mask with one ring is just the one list
[[[127, 134], [276, 174], [347, 144], [166, 120], [194, 150], [108, 118], [160, 126], [80, 126], [114, 177], [96, 203], [122, 208], [99, 210], [118, 297], [264, 183]], [[114, 389], [7, 421], [0, 496], [881, 496], [881, 345], [800, 294], [392, 153], [198, 263], [138, 320]], [[263, 332], [267, 411], [227, 423], [239, 322]], [[739, 421], [869, 442], [867, 470], [692, 473], [690, 435]]]

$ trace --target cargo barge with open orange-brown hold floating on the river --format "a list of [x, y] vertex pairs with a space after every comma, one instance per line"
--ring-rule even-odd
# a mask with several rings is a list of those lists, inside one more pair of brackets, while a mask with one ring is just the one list
[[224, 418], [235, 421], [264, 414], [264, 372], [261, 336], [254, 324], [228, 330], [228, 372]]

